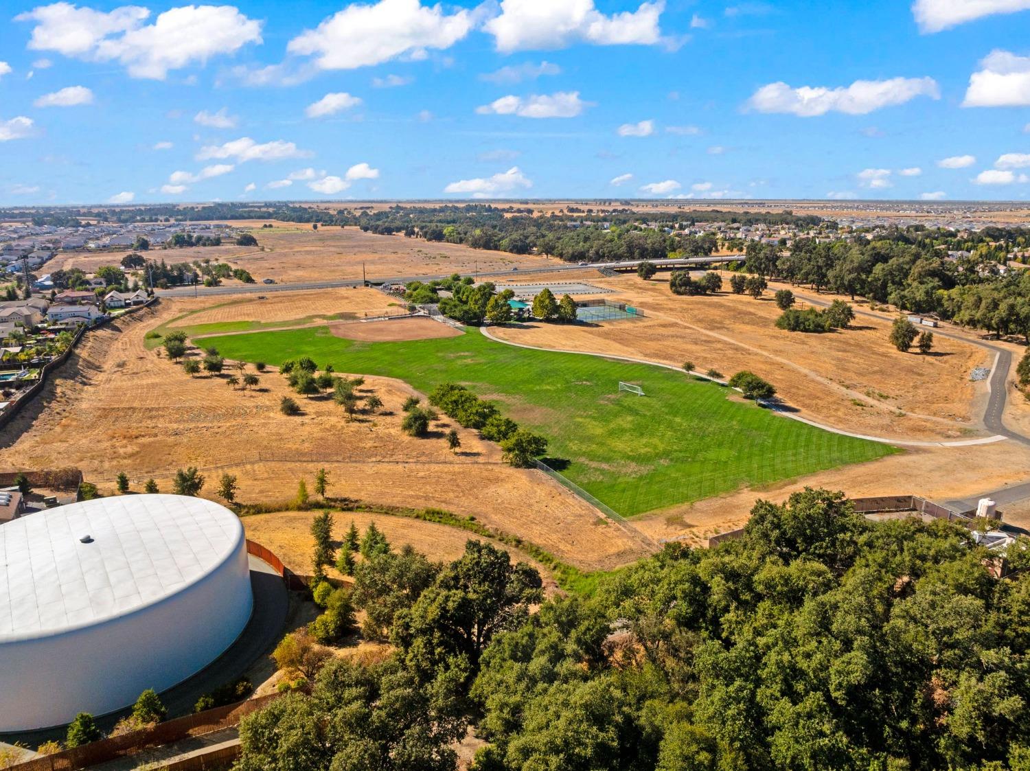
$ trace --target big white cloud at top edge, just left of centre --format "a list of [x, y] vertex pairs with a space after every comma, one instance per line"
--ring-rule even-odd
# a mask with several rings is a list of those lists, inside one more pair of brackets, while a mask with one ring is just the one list
[[449, 48], [473, 24], [469, 10], [447, 14], [441, 5], [418, 0], [353, 3], [295, 37], [286, 50], [314, 57], [323, 70], [350, 70], [398, 57], [424, 59], [427, 48]]

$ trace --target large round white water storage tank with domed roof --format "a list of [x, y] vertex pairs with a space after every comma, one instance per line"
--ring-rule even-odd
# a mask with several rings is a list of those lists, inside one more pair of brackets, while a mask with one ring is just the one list
[[243, 526], [203, 498], [100, 498], [0, 525], [0, 732], [171, 688], [252, 606]]

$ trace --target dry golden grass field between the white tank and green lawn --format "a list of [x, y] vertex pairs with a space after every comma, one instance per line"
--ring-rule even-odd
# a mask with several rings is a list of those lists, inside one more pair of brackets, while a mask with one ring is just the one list
[[135, 490], [152, 477], [168, 491], [177, 468], [195, 465], [207, 478], [202, 494], [213, 496], [218, 477], [234, 474], [244, 502], [288, 501], [301, 478], [310, 489], [324, 467], [331, 495], [475, 516], [584, 569], [615, 567], [648, 551], [541, 472], [503, 463], [500, 449], [474, 431], [458, 429], [457, 454], [443, 440], [447, 421], [435, 424], [431, 439], [406, 435], [399, 413], [412, 390], [403, 383], [368, 379], [362, 390], [377, 393], [392, 414], [348, 422], [328, 397], [297, 397], [304, 415], [282, 415], [288, 389], [274, 373], [249, 391], [222, 378], [191, 378], [143, 345], [147, 329], [180, 312], [178, 301], [164, 301], [88, 335], [63, 377], [50, 379], [0, 431], [3, 466], [74, 464], [112, 492], [118, 471]]

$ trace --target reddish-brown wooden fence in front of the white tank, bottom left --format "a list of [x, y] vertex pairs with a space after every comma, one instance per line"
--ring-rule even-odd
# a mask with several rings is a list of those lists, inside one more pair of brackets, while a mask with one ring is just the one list
[[[112, 736], [72, 749], [35, 758], [11, 766], [10, 769], [11, 771], [78, 771], [78, 769], [107, 763], [118, 758], [138, 755], [152, 747], [160, 747], [193, 736], [203, 736], [238, 726], [242, 717], [267, 706], [281, 696], [282, 694], [278, 693], [269, 694], [256, 699], [207, 709], [196, 714], [187, 714], [184, 717], [159, 723], [141, 731], [132, 731], [122, 736]], [[191, 768], [214, 768], [214, 766], [194, 766]]]

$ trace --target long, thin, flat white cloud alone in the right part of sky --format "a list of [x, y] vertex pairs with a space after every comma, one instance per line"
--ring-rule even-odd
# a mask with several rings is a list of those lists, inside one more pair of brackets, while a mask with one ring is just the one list
[[865, 115], [873, 110], [904, 104], [916, 97], [940, 99], [940, 89], [930, 77], [894, 77], [888, 80], [856, 80], [848, 86], [828, 87], [785, 82], [769, 83], [756, 91], [747, 106], [758, 112], [785, 112], [801, 117], [844, 112]]

